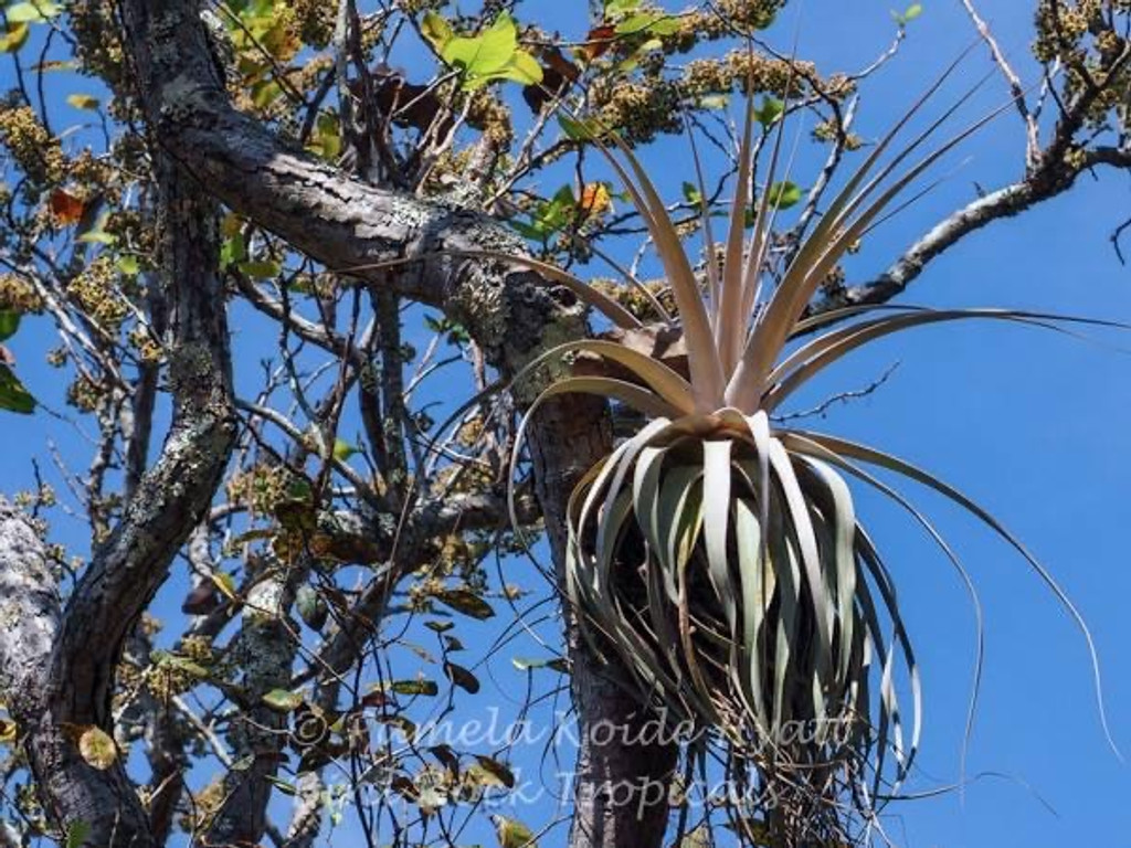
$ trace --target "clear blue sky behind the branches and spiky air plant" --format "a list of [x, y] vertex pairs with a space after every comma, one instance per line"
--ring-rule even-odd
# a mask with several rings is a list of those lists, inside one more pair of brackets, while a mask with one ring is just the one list
[[[569, 36], [582, 31], [580, 0], [528, 0], [518, 17], [537, 16]], [[670, 5], [675, 8], [674, 5]], [[1031, 38], [1029, 0], [983, 0], [981, 11], [1026, 81], [1036, 66], [1028, 60]], [[874, 136], [908, 104], [940, 68], [974, 38], [958, 0], [924, 3], [901, 54], [864, 88], [861, 132]], [[788, 49], [800, 20], [798, 54], [817, 60], [823, 71], [867, 64], [892, 35], [887, 0], [806, 0], [792, 3], [770, 38]], [[985, 51], [976, 50], [973, 80], [988, 70]], [[7, 72], [7, 70], [2, 71]], [[3, 87], [0, 85], [0, 87]], [[961, 86], [952, 87], [958, 92]], [[1002, 102], [1005, 88], [994, 79], [967, 113]], [[62, 109], [68, 109], [62, 106]], [[76, 115], [70, 119], [78, 120]], [[689, 173], [685, 142], [668, 140], [645, 154], [649, 173], [674, 197]], [[849, 267], [849, 282], [882, 269], [941, 215], [972, 200], [975, 182], [994, 188], [1017, 179], [1022, 168], [1024, 135], [1010, 112], [965, 145], [964, 166], [936, 192], [887, 224]], [[955, 164], [964, 157], [952, 157]], [[804, 184], [805, 157], [796, 181]], [[1131, 322], [1131, 274], [1120, 266], [1107, 235], [1131, 214], [1126, 175], [1085, 176], [1070, 193], [1022, 216], [993, 224], [969, 236], [931, 263], [901, 298], [930, 305], [1001, 305], [1094, 315]], [[547, 185], [552, 180], [547, 179]], [[547, 192], [549, 193], [549, 192]], [[275, 344], [241, 323], [248, 354]], [[1131, 570], [1126, 568], [1126, 528], [1131, 501], [1131, 337], [1097, 336], [1089, 344], [1028, 328], [947, 325], [913, 331], [861, 352], [810, 392], [810, 400], [861, 388], [898, 362], [889, 380], [869, 397], [838, 406], [826, 421], [831, 432], [883, 447], [958, 485], [994, 512], [1052, 570], [1087, 617], [1096, 638], [1113, 734], [1131, 754]], [[12, 345], [20, 374], [33, 390], [62, 408], [63, 383], [43, 366], [54, 345], [46, 320], [32, 321]], [[247, 362], [247, 358], [242, 361]], [[464, 390], [438, 384], [438, 395]], [[804, 406], [804, 403], [798, 403]], [[0, 418], [0, 479], [8, 492], [31, 485], [28, 458], [36, 457], [53, 476], [44, 435], [59, 442], [79, 467], [86, 447], [74, 430], [44, 415]], [[60, 487], [61, 488], [61, 487]], [[1065, 843], [1131, 845], [1131, 771], [1107, 749], [1095, 702], [1083, 640], [1052, 595], [1025, 562], [985, 528], [930, 493], [901, 488], [936, 519], [977, 583], [986, 612], [987, 657], [982, 701], [970, 744], [968, 775], [995, 772], [969, 786], [965, 796], [948, 794], [891, 807], [891, 838], [907, 848], [946, 846], [979, 848], [1025, 845], [1060, 848]], [[866, 492], [860, 511], [873, 529], [891, 566], [906, 618], [910, 622], [924, 675], [926, 727], [920, 772], [909, 791], [926, 791], [955, 781], [959, 773], [962, 726], [969, 698], [973, 615], [961, 585], [947, 562], [896, 509]], [[81, 526], [59, 519], [62, 540], [80, 545]], [[508, 581], [542, 590], [523, 561], [508, 561]], [[183, 572], [163, 590], [156, 613], [171, 621], [183, 595]], [[480, 630], [461, 629], [473, 657], [508, 622], [500, 617]], [[426, 633], [426, 631], [424, 631]], [[553, 622], [541, 628], [555, 639]], [[472, 637], [474, 635], [474, 642]], [[503, 715], [516, 709], [525, 675], [512, 656], [536, 655], [530, 640], [500, 650], [480, 676], [483, 691], [463, 696], [460, 709], [486, 710], [498, 703]], [[455, 657], [454, 657], [455, 658]], [[395, 660], [405, 670], [411, 657]], [[481, 669], [483, 670], [483, 669]], [[542, 675], [542, 676], [538, 676]], [[543, 690], [550, 672], [535, 673]], [[564, 708], [559, 699], [556, 707]], [[552, 704], [532, 713], [535, 724], [551, 721]], [[566, 746], [568, 749], [568, 746]], [[571, 768], [569, 751], [562, 767]], [[541, 751], [520, 745], [515, 763], [526, 775], [537, 771]], [[544, 772], [554, 771], [546, 764]], [[1048, 810], [1051, 806], [1055, 813]], [[285, 811], [285, 801], [276, 808]], [[545, 799], [516, 811], [532, 827], [547, 824], [553, 805]], [[482, 824], [467, 841], [492, 843]], [[353, 843], [355, 833], [339, 834]], [[558, 828], [544, 846], [564, 843]], [[725, 845], [726, 842], [720, 842]]]

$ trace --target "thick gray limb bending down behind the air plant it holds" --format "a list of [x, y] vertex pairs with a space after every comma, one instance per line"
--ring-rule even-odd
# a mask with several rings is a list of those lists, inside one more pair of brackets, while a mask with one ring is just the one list
[[[555, 341], [587, 331], [571, 295], [501, 263], [433, 256], [391, 279], [388, 269], [365, 268], [441, 248], [518, 252], [523, 245], [490, 218], [375, 188], [284, 148], [227, 104], [193, 3], [128, 0], [123, 11], [150, 128], [216, 198], [331, 269], [442, 308], [468, 328], [503, 373], [513, 373]], [[534, 422], [537, 492], [559, 568], [566, 500], [577, 477], [607, 450], [608, 439], [604, 407], [590, 399], [547, 404]], [[582, 729], [611, 722], [631, 730], [645, 720], [634, 699], [612, 683], [616, 669], [599, 668], [585, 651], [575, 650], [572, 660]], [[573, 845], [658, 845], [666, 798], [645, 804], [638, 816], [637, 804], [614, 805], [610, 794], [657, 779], [666, 785], [674, 749], [629, 751], [585, 738], [576, 776]]]

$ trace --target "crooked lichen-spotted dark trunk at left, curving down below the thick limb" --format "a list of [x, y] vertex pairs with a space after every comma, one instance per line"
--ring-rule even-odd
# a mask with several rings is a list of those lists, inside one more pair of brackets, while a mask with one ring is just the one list
[[[88, 764], [76, 728], [112, 729], [110, 701], [122, 644], [206, 513], [235, 438], [215, 211], [167, 162], [159, 170], [173, 422], [157, 462], [95, 551], [58, 626], [52, 629], [45, 607], [50, 583], [27, 587], [19, 599], [28, 626], [53, 639], [50, 657], [38, 656], [36, 642], [35, 661], [15, 658], [26, 670], [11, 681], [14, 715], [26, 730], [25, 749], [49, 819], [63, 830], [83, 822], [89, 829], [85, 843], [92, 846], [154, 845], [122, 763], [106, 770]], [[31, 649], [5, 640], [3, 650]]]

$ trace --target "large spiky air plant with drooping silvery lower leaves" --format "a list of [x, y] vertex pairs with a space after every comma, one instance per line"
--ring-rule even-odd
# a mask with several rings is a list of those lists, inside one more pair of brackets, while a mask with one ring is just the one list
[[[612, 132], [590, 135], [663, 263], [676, 314], [654, 302], [658, 327], [642, 326], [560, 269], [518, 260], [568, 285], [619, 328], [612, 339], [570, 341], [530, 365], [578, 355], [602, 363], [596, 373], [590, 367], [553, 382], [523, 427], [539, 404], [566, 392], [599, 395], [645, 416], [639, 431], [598, 461], [569, 499], [566, 589], [581, 630], [599, 655], [619, 657], [641, 699], [670, 724], [709, 728], [732, 764], [774, 786], [779, 801], [786, 789], [794, 801], [792, 807], [779, 804], [774, 827], [787, 845], [841, 839], [839, 798], [848, 797], [873, 816], [907, 776], [921, 735], [920, 669], [895, 580], [857, 518], [846, 478], [880, 490], [908, 510], [964, 579], [960, 563], [926, 518], [869, 467], [924, 484], [973, 513], [1051, 587], [1083, 632], [1093, 668], [1098, 667], [1080, 614], [984, 509], [884, 451], [774, 417], [814, 375], [895, 332], [966, 319], [1052, 328], [1083, 320], [912, 306], [849, 306], [806, 317], [822, 280], [849, 246], [917, 178], [993, 116], [905, 165], [967, 94], [893, 152], [897, 137], [957, 64], [866, 154], [784, 267], [776, 265], [782, 252], [771, 250], [776, 206], [768, 190], [782, 159], [784, 116], [767, 189], [752, 202], [748, 99], [722, 244], [713, 239], [705, 201], [703, 279], [629, 147]], [[682, 336], [685, 369], [641, 349], [639, 339], [658, 330]], [[520, 433], [516, 458], [521, 441]], [[1098, 694], [1098, 673], [1096, 686]], [[906, 699], [908, 689], [909, 727], [897, 692]], [[787, 821], [791, 808], [804, 822]]]

